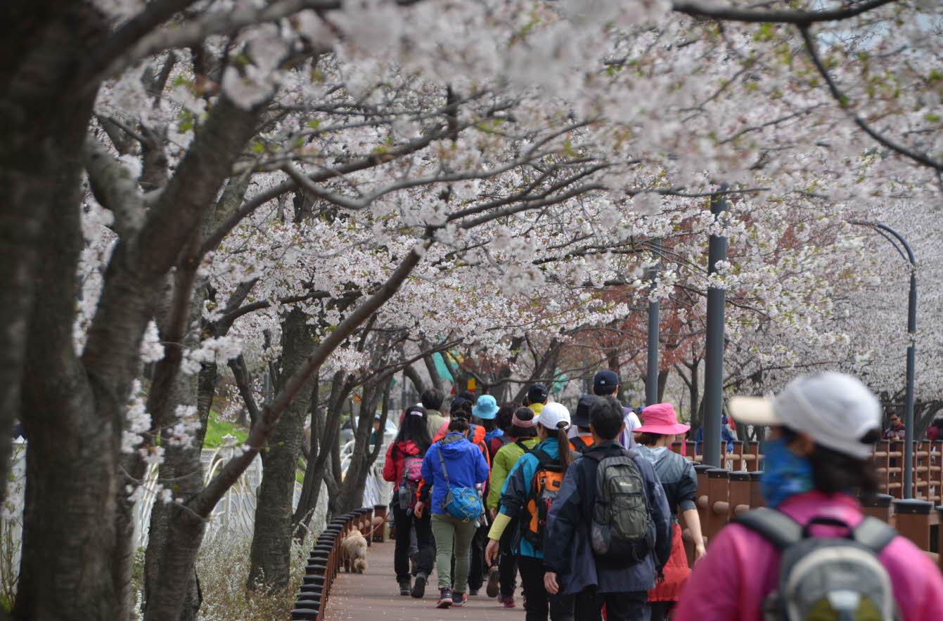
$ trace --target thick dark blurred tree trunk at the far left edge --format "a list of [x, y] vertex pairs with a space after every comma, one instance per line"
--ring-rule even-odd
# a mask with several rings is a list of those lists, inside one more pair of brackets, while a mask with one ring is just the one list
[[30, 10], [43, 12], [42, 19], [32, 15], [18, 22], [14, 7], [14, 16], [7, 15], [11, 21], [0, 25], [5, 50], [0, 474], [5, 479], [10, 417], [20, 403], [29, 439], [14, 616], [41, 621], [67, 612], [74, 619], [105, 621], [119, 618], [121, 611], [111, 555], [121, 433], [115, 400], [126, 395], [96, 402], [104, 391], [92, 392], [74, 353], [82, 149], [97, 87], [62, 92], [105, 25], [86, 3], [39, 4], [46, 6]]

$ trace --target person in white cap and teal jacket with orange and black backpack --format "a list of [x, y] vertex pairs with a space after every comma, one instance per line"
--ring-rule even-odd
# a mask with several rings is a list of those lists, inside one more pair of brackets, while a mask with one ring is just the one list
[[540, 441], [511, 468], [501, 492], [501, 511], [488, 532], [486, 556], [493, 561], [499, 542], [512, 517], [518, 516], [515, 552], [521, 581], [527, 594], [526, 621], [572, 618], [572, 597], [550, 596], [543, 584], [544, 524], [548, 503], [552, 506], [559, 484], [573, 461], [567, 429], [570, 411], [561, 403], [548, 403], [540, 411], [537, 436]]

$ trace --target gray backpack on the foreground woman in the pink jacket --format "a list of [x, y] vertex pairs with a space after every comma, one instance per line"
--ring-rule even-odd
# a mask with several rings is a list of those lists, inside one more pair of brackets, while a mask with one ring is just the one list
[[[766, 621], [896, 621], [900, 618], [890, 576], [878, 553], [897, 531], [876, 517], [851, 529], [831, 517], [808, 525], [774, 509], [757, 509], [735, 522], [783, 552], [778, 587], [764, 601]], [[814, 537], [814, 524], [848, 529], [847, 537]]]

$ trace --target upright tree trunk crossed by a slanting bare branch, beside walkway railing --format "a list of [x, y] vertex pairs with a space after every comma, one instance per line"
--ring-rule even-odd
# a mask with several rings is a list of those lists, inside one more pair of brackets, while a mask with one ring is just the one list
[[[313, 351], [306, 320], [305, 313], [294, 308], [282, 323], [283, 380], [290, 378]], [[309, 379], [306, 387], [291, 401], [262, 454], [262, 483], [258, 490], [256, 530], [250, 553], [250, 589], [264, 585], [277, 591], [289, 583], [291, 505], [298, 457], [301, 455], [301, 436], [313, 385], [313, 379]]]

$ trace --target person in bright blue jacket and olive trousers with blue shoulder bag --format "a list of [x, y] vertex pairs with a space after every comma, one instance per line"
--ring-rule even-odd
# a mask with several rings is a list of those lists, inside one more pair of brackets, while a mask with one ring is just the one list
[[[453, 415], [449, 422], [449, 433], [434, 443], [422, 460], [422, 480], [425, 484], [422, 485], [422, 496], [416, 503], [415, 514], [422, 517], [427, 506], [432, 514], [432, 532], [436, 538], [438, 608], [462, 606], [468, 599], [465, 585], [469, 577], [469, 552], [478, 517], [483, 511], [475, 487], [488, 480], [488, 462], [481, 449], [468, 441], [469, 429], [466, 417]], [[453, 583], [455, 593], [452, 591]]]

